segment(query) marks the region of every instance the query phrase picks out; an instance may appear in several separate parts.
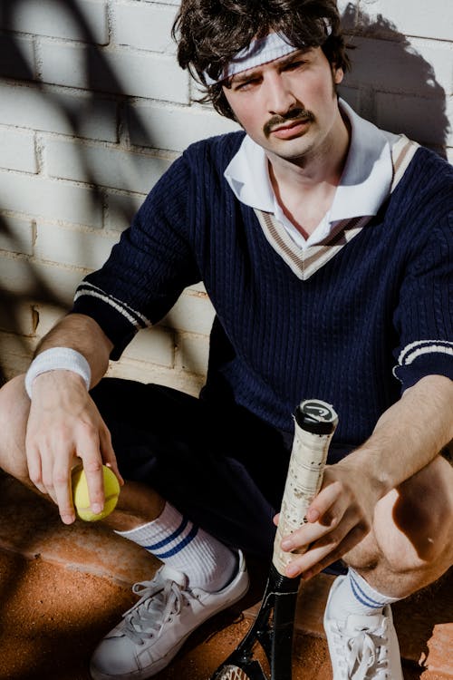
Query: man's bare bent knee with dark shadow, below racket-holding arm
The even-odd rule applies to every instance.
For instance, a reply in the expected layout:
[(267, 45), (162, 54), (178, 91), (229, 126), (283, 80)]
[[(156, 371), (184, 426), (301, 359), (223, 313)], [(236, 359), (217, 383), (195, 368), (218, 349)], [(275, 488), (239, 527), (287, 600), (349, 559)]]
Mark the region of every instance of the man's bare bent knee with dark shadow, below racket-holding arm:
[(407, 597), (453, 559), (453, 468), (438, 456), (376, 507), (371, 533), (345, 560), (377, 589)]

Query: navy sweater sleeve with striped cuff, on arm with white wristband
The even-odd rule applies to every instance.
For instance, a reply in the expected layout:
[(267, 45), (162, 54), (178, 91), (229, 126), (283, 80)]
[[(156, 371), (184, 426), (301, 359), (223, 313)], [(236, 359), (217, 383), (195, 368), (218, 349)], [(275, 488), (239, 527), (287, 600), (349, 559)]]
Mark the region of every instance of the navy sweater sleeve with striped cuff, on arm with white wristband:
[(182, 156), (150, 191), (103, 267), (76, 290), (72, 312), (92, 316), (101, 325), (114, 345), (112, 359), (199, 280), (188, 244), (193, 190), (189, 163)]

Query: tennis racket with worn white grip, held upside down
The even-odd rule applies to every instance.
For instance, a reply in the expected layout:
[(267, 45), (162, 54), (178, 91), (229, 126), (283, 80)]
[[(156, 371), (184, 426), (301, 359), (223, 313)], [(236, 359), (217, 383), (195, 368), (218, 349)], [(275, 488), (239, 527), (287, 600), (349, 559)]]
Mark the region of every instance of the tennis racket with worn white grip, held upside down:
[(295, 410), (293, 448), (261, 607), (246, 636), (217, 668), (211, 680), (292, 678), (294, 611), (300, 577), (284, 576), (284, 569), (294, 559), (294, 553), (284, 552), (280, 543), (285, 535), (307, 521), (305, 514), (321, 488), (327, 452), (337, 423), (337, 414), (325, 402), (304, 401)]

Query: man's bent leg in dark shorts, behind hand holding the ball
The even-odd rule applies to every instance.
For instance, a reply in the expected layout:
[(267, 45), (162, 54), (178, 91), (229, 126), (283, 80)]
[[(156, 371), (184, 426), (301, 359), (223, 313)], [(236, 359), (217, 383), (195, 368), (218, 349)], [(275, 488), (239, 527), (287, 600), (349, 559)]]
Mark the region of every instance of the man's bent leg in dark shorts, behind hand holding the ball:
[[(165, 498), (217, 539), (270, 558), (272, 519), (289, 460), (278, 432), (248, 415), (245, 422), (240, 412), (222, 408), (216, 415), (188, 394), (155, 385), (107, 379), (92, 395), (127, 480), (118, 510), (105, 520), (112, 529), (133, 529), (156, 519)], [(0, 468), (43, 496), (28, 476), (29, 406), (23, 376), (0, 389)], [(267, 472), (265, 452), (275, 453), (275, 466)]]

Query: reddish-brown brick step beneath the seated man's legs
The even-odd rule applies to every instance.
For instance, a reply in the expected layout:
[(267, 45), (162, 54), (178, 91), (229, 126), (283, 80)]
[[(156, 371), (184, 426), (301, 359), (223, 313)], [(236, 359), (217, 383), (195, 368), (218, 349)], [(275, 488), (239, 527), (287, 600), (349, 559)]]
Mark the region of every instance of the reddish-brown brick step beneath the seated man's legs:
[[(0, 475), (0, 548), (30, 559), (40, 556), (48, 563), (96, 577), (107, 577), (122, 588), (149, 579), (159, 566), (157, 559), (101, 525), (77, 521), (71, 527), (64, 526), (51, 504), (5, 475)], [(313, 680), (314, 677), (323, 680), (324, 674), (327, 674), (327, 679), (331, 673), (323, 632), (323, 608), (332, 581), (333, 577), (321, 574), (303, 583), (298, 597), (295, 633), (302, 642), (295, 647), (295, 655), (301, 659), (307, 655), (318, 659), (319, 664), (313, 666), (317, 668)], [(244, 621), (236, 621), (232, 646), (236, 645), (255, 617), (261, 593), (260, 582), (247, 598)], [(432, 590), (399, 602), (392, 608), (401, 656), (408, 663), (417, 665), (420, 672), (424, 671), (423, 678), (426, 676), (427, 680), (453, 679), (451, 578), (443, 578)], [(240, 612), (236, 614), (240, 615)], [(226, 619), (226, 627), (230, 624), (231, 621)], [(213, 636), (218, 626), (217, 622), (212, 628)], [(206, 627), (204, 630), (206, 635)], [(206, 637), (198, 642), (205, 646)], [(193, 644), (197, 646), (197, 636)], [(195, 647), (191, 645), (190, 649), (189, 656), (194, 653)], [(196, 656), (202, 653), (202, 650), (197, 650)], [(303, 660), (301, 664), (304, 664)], [(167, 675), (162, 675), (164, 677)], [(310, 680), (310, 677), (304, 675), (304, 680)]]

